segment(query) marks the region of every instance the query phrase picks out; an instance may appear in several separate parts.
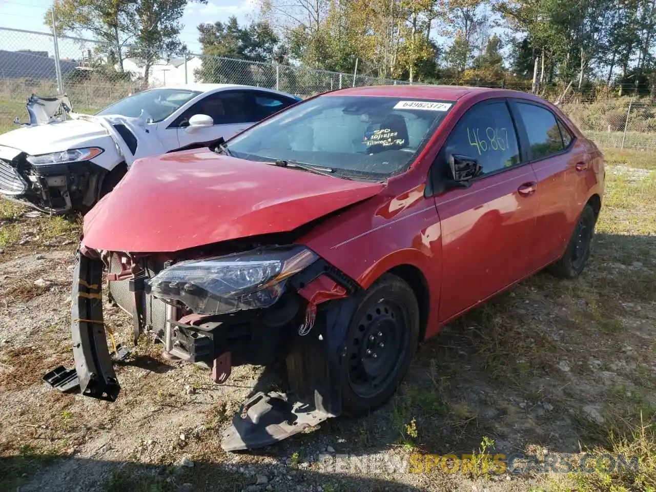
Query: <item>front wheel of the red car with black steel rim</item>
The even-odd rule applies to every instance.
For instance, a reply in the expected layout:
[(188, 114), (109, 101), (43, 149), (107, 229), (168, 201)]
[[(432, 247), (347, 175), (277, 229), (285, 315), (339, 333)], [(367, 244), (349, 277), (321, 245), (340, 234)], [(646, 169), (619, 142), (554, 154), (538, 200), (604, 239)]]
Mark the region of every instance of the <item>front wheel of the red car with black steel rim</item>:
[(419, 304), (400, 277), (385, 274), (365, 292), (346, 335), (342, 412), (358, 416), (392, 397), (419, 340)]

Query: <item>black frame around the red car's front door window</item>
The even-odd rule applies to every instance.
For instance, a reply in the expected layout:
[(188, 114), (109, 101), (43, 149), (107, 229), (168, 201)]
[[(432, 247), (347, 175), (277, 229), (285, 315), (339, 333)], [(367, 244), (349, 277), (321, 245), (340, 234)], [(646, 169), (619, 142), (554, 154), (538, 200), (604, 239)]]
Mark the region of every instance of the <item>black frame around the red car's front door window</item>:
[[(482, 174), (481, 176), (478, 176), (476, 178), (472, 178), (470, 180), (471, 183), (478, 182), (480, 180), (483, 180), (485, 178), (489, 178), (491, 176), (497, 176), (497, 174), (501, 173), (506, 173), (512, 169), (518, 169), (520, 167), (523, 167), (527, 164), (529, 164), (529, 161), (527, 160), (527, 153), (525, 151), (525, 142), (522, 140), (522, 131), (525, 131), (525, 129), (521, 128), (520, 131), (520, 125), (518, 125), (518, 120), (516, 119), (516, 115), (514, 114), (512, 110), (512, 106), (510, 106), (508, 102), (507, 97), (494, 97), (494, 98), (489, 98), (489, 99), (484, 99), (482, 101), (476, 102), (475, 104), (472, 104), (467, 110), (462, 114), (462, 116), (458, 119), (458, 121), (455, 122), (453, 127), (451, 128), (451, 131), (449, 131), (449, 134), (447, 137), (444, 139), (444, 143), (442, 144), (440, 150), (438, 151), (438, 154), (436, 155), (434, 161), (430, 165), (430, 169), (428, 170), (428, 185), (426, 186), (426, 190), (429, 191), (428, 196), (435, 196), (439, 195), (447, 190), (444, 189), (443, 184), (440, 184), (441, 181), (441, 176), (439, 175), (440, 167), (444, 167), (447, 165), (446, 160), (443, 158), (443, 151), (446, 148), (447, 143), (449, 142), (449, 138), (451, 138), (451, 135), (455, 132), (456, 127), (459, 125), (459, 123), (462, 121), (466, 115), (474, 108), (480, 107), (480, 106), (486, 106), (487, 104), (498, 104), (498, 103), (504, 103), (506, 104), (506, 108), (508, 108), (508, 114), (510, 115), (510, 120), (512, 121), (512, 126), (515, 131), (515, 136), (517, 139), (517, 148), (518, 148), (518, 154), (520, 157), (520, 161), (516, 163), (515, 165), (512, 165), (510, 167), (502, 167), (500, 169), (496, 169), (495, 171), (491, 171), (490, 173)], [(441, 162), (441, 163), (440, 163)], [(440, 186), (438, 186), (440, 185)], [(429, 190), (430, 188), (430, 190)]]

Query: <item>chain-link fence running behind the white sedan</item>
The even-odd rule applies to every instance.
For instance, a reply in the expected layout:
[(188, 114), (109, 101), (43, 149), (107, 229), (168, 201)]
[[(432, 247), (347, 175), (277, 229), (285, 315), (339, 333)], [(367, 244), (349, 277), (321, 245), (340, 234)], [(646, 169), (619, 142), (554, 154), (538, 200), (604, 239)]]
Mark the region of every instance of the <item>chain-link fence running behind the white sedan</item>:
[(408, 83), (193, 53), (156, 53), (144, 60), (132, 56), (134, 50), (131, 45), (119, 49), (92, 39), (55, 39), (51, 33), (0, 28), (0, 133), (12, 129), (17, 116), (26, 116), (30, 94), (52, 96), (60, 87), (76, 112), (93, 113), (163, 85), (235, 83), (307, 97), (343, 87)]

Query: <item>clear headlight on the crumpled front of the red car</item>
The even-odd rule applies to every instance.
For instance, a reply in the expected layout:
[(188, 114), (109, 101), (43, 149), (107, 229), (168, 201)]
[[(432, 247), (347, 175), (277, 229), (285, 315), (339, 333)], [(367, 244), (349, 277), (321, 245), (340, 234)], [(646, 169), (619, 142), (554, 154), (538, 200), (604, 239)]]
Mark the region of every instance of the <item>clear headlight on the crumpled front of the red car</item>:
[(266, 308), (282, 295), (287, 279), (318, 258), (302, 246), (261, 249), (183, 261), (146, 281), (146, 292), (179, 300), (196, 314)]

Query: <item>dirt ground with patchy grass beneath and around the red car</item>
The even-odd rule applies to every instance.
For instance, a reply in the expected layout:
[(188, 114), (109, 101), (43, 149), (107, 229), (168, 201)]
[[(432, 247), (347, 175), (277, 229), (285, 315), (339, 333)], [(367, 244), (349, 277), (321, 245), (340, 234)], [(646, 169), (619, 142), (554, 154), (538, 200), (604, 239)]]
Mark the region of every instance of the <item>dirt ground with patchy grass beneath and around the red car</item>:
[[(609, 166), (593, 253), (579, 279), (538, 274), (451, 323), (420, 346), (398, 394), (369, 417), (329, 420), (245, 453), (222, 451), (221, 432), (256, 384), (276, 386), (276, 371), (237, 367), (217, 386), (208, 371), (167, 361), (146, 340), (117, 366), (122, 390), (115, 403), (60, 394), (42, 382), (52, 367), (72, 367), (76, 226), (5, 208), (0, 490), (470, 492), (604, 490), (611, 483), (653, 490), (653, 469), (628, 476), (496, 473), (481, 466), (451, 473), (443, 466), (426, 471), (417, 454), (473, 453), (474, 462), (486, 453), (578, 459), (586, 451), (637, 449), (632, 445), (642, 439), (641, 464), (653, 466), (656, 173), (650, 166), (621, 160)], [(115, 312), (108, 322), (129, 343), (125, 316)], [(632, 436), (636, 429), (642, 438)]]

